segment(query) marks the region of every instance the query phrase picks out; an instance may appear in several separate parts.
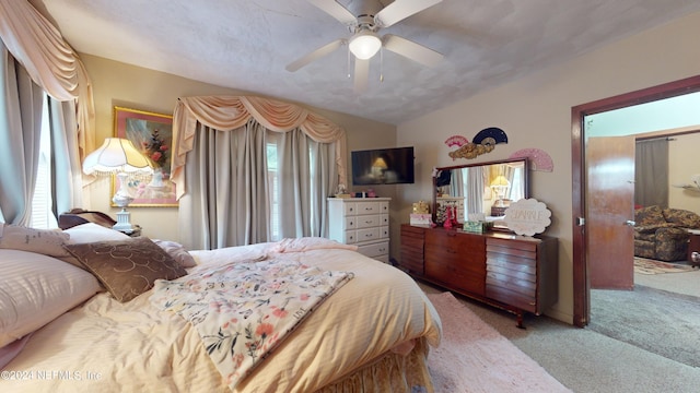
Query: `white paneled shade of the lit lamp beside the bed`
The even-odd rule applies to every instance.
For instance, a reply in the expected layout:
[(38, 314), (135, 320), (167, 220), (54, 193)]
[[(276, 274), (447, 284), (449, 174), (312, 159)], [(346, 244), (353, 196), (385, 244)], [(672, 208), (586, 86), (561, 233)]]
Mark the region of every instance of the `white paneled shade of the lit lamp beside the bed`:
[(152, 172), (151, 164), (127, 139), (107, 138), (83, 160), (83, 172)]

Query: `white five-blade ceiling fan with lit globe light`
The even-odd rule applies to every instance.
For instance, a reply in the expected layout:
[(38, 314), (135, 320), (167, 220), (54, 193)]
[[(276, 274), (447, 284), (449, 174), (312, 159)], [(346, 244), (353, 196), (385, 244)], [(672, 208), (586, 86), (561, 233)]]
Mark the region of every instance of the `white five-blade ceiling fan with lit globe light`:
[(345, 8), (337, 0), (307, 1), (348, 26), (352, 36), (336, 39), (301, 57), (289, 63), (287, 71), (294, 72), (341, 46), (348, 45), (354, 57), (354, 90), (362, 93), (368, 87), (370, 59), (381, 48), (427, 67), (434, 67), (443, 59), (443, 55), (415, 41), (393, 34), (385, 34), (382, 37), (377, 34), (381, 28), (392, 26), (442, 0), (395, 0), (384, 8), (380, 0), (351, 0), (348, 4), (350, 9)]

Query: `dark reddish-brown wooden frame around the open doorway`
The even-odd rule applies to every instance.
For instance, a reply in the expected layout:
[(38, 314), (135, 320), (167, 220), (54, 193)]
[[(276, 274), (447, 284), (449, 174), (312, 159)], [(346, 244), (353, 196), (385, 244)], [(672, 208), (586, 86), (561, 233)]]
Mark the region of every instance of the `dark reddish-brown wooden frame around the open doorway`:
[(664, 83), (653, 87), (598, 99), (571, 108), (571, 170), (572, 170), (572, 240), (573, 240), (573, 324), (583, 327), (591, 319), (591, 285), (586, 250), (585, 224), (585, 116), (620, 109), (639, 104), (700, 92), (700, 75)]

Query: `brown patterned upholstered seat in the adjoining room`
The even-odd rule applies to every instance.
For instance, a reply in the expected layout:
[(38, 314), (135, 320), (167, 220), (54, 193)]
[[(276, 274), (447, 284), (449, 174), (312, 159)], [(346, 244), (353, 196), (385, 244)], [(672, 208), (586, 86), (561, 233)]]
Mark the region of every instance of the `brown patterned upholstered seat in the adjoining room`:
[(700, 215), (681, 209), (648, 206), (634, 213), (634, 255), (660, 261), (687, 258), (688, 229), (700, 228)]

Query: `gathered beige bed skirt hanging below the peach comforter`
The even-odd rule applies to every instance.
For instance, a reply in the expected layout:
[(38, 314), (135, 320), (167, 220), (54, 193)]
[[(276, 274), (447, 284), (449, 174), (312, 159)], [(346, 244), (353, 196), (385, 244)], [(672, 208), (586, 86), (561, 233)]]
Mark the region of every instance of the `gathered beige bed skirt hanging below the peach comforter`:
[(433, 393), (428, 371), (430, 346), (425, 337), (416, 340), (416, 346), (406, 356), (386, 353), (373, 362), (327, 385), (316, 393), (350, 392), (420, 392)]

